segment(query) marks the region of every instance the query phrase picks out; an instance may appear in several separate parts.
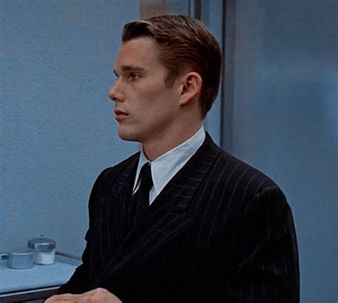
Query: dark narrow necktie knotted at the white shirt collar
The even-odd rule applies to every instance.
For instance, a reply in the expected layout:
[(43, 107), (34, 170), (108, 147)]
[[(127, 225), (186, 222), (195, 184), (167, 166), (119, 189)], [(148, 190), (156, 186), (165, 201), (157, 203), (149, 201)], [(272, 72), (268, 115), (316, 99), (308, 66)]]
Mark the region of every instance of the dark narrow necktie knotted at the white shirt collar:
[(150, 163), (145, 163), (140, 170), (140, 186), (131, 196), (132, 203), (136, 205), (134, 225), (143, 219), (146, 210), (149, 207), (149, 191), (153, 187), (153, 178), (151, 178)]

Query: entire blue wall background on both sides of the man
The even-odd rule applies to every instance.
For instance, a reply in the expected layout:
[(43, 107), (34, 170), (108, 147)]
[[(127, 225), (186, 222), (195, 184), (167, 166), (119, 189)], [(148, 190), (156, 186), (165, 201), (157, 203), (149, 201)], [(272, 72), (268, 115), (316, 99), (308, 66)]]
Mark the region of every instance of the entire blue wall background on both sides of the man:
[[(0, 1), (0, 252), (43, 233), (81, 255), (96, 176), (138, 149), (116, 135), (108, 89), (140, 2)], [(205, 126), (285, 191), (302, 302), (337, 302), (338, 1), (227, 1), (225, 24), (222, 1), (202, 4), (226, 48)]]

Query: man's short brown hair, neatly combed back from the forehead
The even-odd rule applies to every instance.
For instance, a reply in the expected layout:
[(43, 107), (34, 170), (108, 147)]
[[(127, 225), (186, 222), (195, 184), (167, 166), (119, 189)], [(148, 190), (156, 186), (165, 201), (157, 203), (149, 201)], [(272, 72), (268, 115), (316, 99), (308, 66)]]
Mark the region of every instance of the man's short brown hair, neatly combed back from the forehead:
[(182, 15), (154, 16), (124, 26), (122, 41), (149, 36), (160, 46), (160, 61), (168, 68), (166, 84), (188, 71), (200, 74), (200, 93), (205, 116), (217, 96), (220, 85), (222, 53), (217, 40), (199, 20)]

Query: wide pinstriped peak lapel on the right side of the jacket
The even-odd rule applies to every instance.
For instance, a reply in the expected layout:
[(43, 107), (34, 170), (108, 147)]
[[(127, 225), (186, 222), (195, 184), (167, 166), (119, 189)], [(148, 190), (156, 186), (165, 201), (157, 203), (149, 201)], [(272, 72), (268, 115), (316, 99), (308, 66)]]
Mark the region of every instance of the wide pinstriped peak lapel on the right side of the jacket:
[[(150, 205), (145, 220), (135, 225), (121, 242), (97, 286), (103, 287), (108, 279), (128, 274), (193, 226), (193, 220), (184, 216), (184, 210), (219, 153), (220, 148), (207, 133), (203, 145)], [(122, 198), (123, 195), (119, 204), (123, 203)]]

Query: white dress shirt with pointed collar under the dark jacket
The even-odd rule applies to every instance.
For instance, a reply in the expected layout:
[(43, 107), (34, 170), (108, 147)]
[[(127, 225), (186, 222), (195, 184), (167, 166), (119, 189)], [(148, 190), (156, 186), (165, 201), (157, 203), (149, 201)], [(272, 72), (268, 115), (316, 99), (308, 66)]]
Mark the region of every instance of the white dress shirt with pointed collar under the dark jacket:
[(183, 168), (183, 165), (185, 165), (185, 163), (187, 163), (188, 160), (196, 153), (198, 148), (200, 148), (200, 145), (203, 144), (204, 140), (205, 130), (202, 126), (200, 130), (193, 135), (193, 137), (153, 161), (148, 160), (141, 148), (133, 193), (138, 190), (140, 185), (138, 177), (143, 164), (149, 162), (151, 164), (151, 176), (153, 178), (153, 188), (151, 188), (149, 192), (149, 201), (151, 204), (153, 200), (155, 200), (155, 197), (157, 197), (163, 188), (165, 188), (165, 185), (167, 185), (171, 178), (178, 173), (178, 170)]

